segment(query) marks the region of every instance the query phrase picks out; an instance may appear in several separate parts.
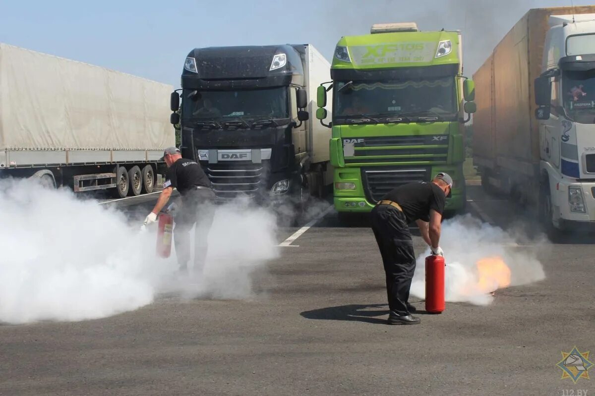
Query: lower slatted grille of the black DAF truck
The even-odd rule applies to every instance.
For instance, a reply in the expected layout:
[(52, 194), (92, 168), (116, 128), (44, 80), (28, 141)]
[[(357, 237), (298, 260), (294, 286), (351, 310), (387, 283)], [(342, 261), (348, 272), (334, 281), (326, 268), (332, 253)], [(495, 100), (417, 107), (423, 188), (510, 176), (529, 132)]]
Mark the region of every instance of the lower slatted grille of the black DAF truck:
[(211, 181), (217, 199), (234, 199), (237, 196), (256, 197), (265, 186), (267, 162), (234, 162), (206, 164), (205, 173)]

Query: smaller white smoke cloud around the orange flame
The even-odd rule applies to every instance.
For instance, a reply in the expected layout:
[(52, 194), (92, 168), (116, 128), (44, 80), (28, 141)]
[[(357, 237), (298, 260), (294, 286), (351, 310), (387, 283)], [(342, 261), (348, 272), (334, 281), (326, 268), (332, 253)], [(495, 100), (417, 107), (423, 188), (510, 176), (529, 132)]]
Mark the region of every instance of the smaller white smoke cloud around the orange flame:
[[(440, 246), (444, 250), (446, 269), (444, 275), (446, 301), (464, 301), (487, 305), (493, 296), (478, 287), (476, 263), (486, 257), (501, 257), (511, 271), (511, 286), (525, 285), (545, 278), (543, 266), (537, 259), (537, 249), (543, 249), (543, 238), (533, 240), (531, 245), (518, 245), (512, 233), (503, 231), (473, 218), (457, 216), (444, 221)], [(415, 275), (411, 284), (411, 296), (425, 297), (425, 257), (428, 248), (417, 259)], [(496, 286), (492, 288), (496, 290)], [(493, 291), (491, 290), (491, 291)]]

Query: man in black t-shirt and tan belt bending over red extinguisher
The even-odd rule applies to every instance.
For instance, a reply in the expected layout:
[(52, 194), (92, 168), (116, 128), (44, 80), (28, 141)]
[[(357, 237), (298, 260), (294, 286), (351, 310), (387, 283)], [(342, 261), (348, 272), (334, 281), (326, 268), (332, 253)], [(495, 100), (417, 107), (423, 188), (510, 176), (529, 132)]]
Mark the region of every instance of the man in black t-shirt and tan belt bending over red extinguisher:
[(386, 272), (389, 325), (417, 325), (420, 322), (411, 315), (415, 308), (408, 301), (415, 271), (409, 223), (417, 222), (432, 254), (443, 255), (439, 246), (440, 222), (451, 188), (452, 178), (441, 172), (431, 183), (408, 183), (394, 188), (372, 209), (372, 231)]

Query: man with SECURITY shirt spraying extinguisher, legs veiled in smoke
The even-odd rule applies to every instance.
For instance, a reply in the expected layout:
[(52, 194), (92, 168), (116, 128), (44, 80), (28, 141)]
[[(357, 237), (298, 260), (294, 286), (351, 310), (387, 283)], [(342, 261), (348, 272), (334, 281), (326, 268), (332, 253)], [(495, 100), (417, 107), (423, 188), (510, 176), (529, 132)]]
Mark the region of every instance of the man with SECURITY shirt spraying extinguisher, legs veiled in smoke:
[(170, 200), (171, 193), (177, 188), (181, 195), (181, 205), (176, 210), (174, 221), (174, 244), (180, 271), (187, 271), (190, 260), (190, 230), (195, 229), (195, 265), (194, 270), (202, 270), (206, 258), (206, 241), (214, 216), (213, 203), (215, 193), (211, 182), (203, 172), (201, 165), (190, 159), (182, 158), (180, 150), (168, 147), (162, 158), (167, 164), (167, 174), (163, 191), (155, 204), (155, 208), (145, 219), (145, 225), (155, 222), (157, 213)]

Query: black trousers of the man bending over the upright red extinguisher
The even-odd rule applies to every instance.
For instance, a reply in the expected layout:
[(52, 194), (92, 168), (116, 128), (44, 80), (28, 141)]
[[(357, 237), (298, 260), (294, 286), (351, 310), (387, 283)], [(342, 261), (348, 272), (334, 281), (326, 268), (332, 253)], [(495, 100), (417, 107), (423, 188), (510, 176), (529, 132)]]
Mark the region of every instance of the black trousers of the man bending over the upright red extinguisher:
[(372, 209), (371, 222), (386, 273), (390, 310), (396, 315), (409, 315), (415, 253), (405, 213), (390, 205), (378, 205)]

